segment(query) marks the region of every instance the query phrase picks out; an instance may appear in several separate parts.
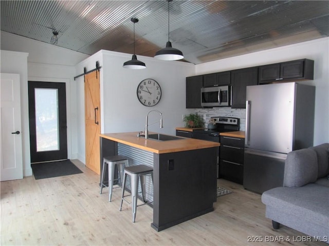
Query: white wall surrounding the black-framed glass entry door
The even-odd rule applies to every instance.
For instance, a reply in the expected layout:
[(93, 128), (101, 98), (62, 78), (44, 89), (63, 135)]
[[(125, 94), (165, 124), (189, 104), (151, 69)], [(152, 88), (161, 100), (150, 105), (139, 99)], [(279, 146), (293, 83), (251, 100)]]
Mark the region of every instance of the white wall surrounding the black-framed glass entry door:
[[(58, 46), (46, 44), (22, 36), (1, 31), (1, 71), (17, 73), (21, 70), (21, 60), (15, 59), (14, 53), (6, 51), (19, 51), (28, 53), (26, 78), (21, 74), (21, 105), (22, 124), (24, 128), (23, 163), (26, 171), (24, 176), (32, 175), (30, 168), (30, 144), (29, 144), (29, 115), (28, 115), (28, 87), (27, 81), (51, 81), (66, 83), (66, 111), (67, 111), (67, 144), (68, 158), (78, 158), (77, 135), (77, 81), (75, 65), (89, 55), (64, 49)], [(22, 60), (23, 61), (23, 60)], [(82, 71), (83, 72), (83, 71)], [(80, 73), (82, 73), (80, 72)], [(84, 133), (83, 133), (84, 134)]]

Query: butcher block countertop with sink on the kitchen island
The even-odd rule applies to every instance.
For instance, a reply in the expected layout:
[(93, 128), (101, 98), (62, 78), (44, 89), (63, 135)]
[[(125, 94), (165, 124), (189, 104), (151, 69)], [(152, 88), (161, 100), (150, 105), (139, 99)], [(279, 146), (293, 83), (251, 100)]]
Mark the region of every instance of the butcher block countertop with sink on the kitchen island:
[[(150, 132), (149, 134), (152, 133), (155, 132)], [(141, 150), (150, 151), (156, 154), (206, 149), (220, 146), (218, 142), (211, 142), (185, 137), (181, 137), (182, 139), (169, 141), (145, 139), (145, 137), (137, 137), (137, 132), (104, 133), (100, 134), (99, 136)]]

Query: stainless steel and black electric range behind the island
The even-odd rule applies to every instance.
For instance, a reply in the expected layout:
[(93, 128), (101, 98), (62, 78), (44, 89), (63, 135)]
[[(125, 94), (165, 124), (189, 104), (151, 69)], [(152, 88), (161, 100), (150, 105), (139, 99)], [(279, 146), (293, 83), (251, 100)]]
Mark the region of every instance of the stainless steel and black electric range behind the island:
[[(240, 131), (240, 119), (231, 117), (211, 117), (214, 129), (197, 129), (192, 132), (192, 138), (221, 142), (221, 132)], [(219, 178), (220, 152), (217, 160), (217, 178)]]

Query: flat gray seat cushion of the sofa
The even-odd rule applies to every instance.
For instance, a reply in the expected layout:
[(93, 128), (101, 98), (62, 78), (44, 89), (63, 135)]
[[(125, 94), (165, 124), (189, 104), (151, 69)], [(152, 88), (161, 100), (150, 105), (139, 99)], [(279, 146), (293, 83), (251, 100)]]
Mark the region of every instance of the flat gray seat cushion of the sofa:
[(315, 183), (299, 188), (273, 188), (262, 194), (262, 202), (305, 221), (317, 221), (325, 227), (329, 223), (329, 189)]

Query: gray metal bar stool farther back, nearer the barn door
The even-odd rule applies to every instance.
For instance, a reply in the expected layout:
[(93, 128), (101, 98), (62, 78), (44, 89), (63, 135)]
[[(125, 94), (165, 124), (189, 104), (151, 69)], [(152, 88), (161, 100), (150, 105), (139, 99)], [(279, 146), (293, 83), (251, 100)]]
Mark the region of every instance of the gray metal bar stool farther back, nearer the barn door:
[[(119, 177), (117, 179), (114, 178), (114, 170), (115, 165), (118, 167)], [(113, 181), (114, 180), (120, 180), (122, 181), (122, 173), (124, 166), (128, 166), (128, 158), (123, 155), (113, 155), (113, 156), (107, 156), (103, 158), (103, 170), (102, 170), (102, 181), (101, 181), (101, 191), (100, 194), (102, 194), (103, 187), (106, 187), (104, 185), (104, 173), (107, 166), (108, 169), (108, 201), (111, 201), (112, 199), (112, 190), (113, 190)], [(121, 182), (122, 185), (122, 182)]]

